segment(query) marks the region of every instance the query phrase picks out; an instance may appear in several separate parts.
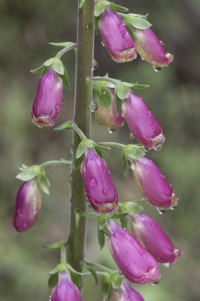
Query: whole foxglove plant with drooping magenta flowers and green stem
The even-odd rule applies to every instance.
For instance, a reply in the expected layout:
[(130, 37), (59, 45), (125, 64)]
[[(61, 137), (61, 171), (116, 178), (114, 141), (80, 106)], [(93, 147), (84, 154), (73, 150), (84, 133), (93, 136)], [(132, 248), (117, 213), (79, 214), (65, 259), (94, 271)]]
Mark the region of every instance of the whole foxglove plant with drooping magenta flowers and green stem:
[[(72, 166), (68, 239), (45, 245), (49, 249), (61, 249), (60, 264), (48, 273), (48, 285), (53, 289), (51, 301), (81, 301), (79, 289), (82, 287), (82, 277), (90, 274), (96, 282), (98, 276), (102, 277), (105, 300), (110, 300), (113, 293), (115, 301), (143, 301), (125, 278), (134, 284), (156, 284), (160, 277), (156, 261), (174, 263), (181, 250), (173, 246), (150, 217), (140, 214), (142, 200), (118, 203), (110, 171), (103, 159), (103, 155), (107, 155), (105, 151), (109, 147), (121, 149), (125, 177), (131, 167), (139, 189), (160, 211), (174, 209), (178, 197), (159, 169), (144, 157), (144, 151), (160, 150), (165, 141), (161, 126), (142, 98), (132, 91), (149, 86), (109, 78), (108, 74), (93, 77), (94, 31), (96, 29), (96, 33), (101, 34), (102, 44), (116, 62), (134, 60), (138, 52), (143, 59), (162, 67), (168, 65), (173, 56), (165, 53), (149, 29), (151, 24), (146, 20), (147, 16), (121, 13), (128, 9), (107, 0), (79, 0), (78, 5), (77, 44), (50, 43), (62, 49), (32, 71), (42, 71), (32, 120), (40, 127), (53, 125), (60, 111), (63, 86), (70, 89), (68, 74), (60, 58), (68, 50), (75, 50), (74, 120), (54, 128), (73, 129), (73, 158), (72, 161), (61, 159), (30, 167), (22, 165), (17, 178), (25, 183), (17, 194), (13, 226), (17, 231), (24, 232), (34, 224), (41, 207), (40, 190), (50, 194), (50, 183), (44, 168), (54, 164)], [(99, 104), (94, 105), (94, 101)], [(123, 126), (125, 118), (131, 131), (130, 138), (135, 137), (140, 144), (97, 144), (91, 140), (91, 111), (96, 111), (96, 120), (100, 124), (111, 129)], [(88, 208), (86, 197), (91, 205)], [(145, 246), (126, 230), (129, 213), (132, 227)], [(119, 270), (85, 261), (87, 216), (98, 220), (100, 249), (104, 246), (105, 234), (108, 235), (109, 250), (120, 273)], [(122, 227), (115, 219), (120, 219)]]

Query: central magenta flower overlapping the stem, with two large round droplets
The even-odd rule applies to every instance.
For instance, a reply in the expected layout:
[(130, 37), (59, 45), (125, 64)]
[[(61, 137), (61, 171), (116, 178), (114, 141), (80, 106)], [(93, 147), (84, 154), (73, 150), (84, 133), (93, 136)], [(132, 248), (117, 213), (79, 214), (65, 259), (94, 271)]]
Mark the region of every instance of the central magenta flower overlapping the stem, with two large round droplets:
[(85, 150), (81, 173), (88, 200), (98, 213), (118, 208), (118, 196), (110, 171), (94, 149)]

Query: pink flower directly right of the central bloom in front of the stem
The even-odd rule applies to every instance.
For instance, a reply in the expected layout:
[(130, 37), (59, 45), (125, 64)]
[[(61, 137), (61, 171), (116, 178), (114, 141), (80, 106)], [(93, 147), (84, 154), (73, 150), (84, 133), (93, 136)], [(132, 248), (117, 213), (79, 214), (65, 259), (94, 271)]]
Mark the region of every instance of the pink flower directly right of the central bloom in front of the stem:
[(134, 160), (132, 169), (138, 188), (151, 204), (165, 209), (176, 206), (178, 196), (151, 160), (146, 157)]

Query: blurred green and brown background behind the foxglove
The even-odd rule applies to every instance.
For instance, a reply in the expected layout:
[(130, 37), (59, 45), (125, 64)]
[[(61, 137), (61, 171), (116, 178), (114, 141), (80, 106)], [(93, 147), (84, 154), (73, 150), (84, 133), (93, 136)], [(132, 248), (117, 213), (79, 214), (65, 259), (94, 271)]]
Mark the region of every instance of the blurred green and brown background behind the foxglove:
[[(159, 285), (138, 285), (146, 301), (200, 300), (200, 1), (199, 0), (124, 0), (115, 1), (130, 12), (146, 14), (157, 36), (165, 42), (175, 60), (161, 72), (140, 57), (117, 64), (95, 38), (95, 75), (127, 82), (149, 84), (138, 90), (167, 137), (162, 151), (150, 151), (148, 158), (166, 175), (180, 196), (178, 208), (159, 215), (149, 203), (144, 213), (154, 218), (170, 236), (183, 255), (170, 269), (160, 265)], [(59, 251), (43, 244), (67, 238), (69, 218), (70, 169), (47, 168), (50, 197), (43, 194), (42, 210), (36, 224), (27, 232), (17, 233), (11, 224), (15, 197), (21, 181), (15, 179), (18, 167), (43, 161), (71, 158), (71, 131), (40, 129), (31, 121), (31, 108), (40, 74), (30, 69), (41, 65), (59, 50), (47, 42), (76, 40), (77, 1), (70, 0), (0, 0), (0, 301), (44, 301), (50, 296), (46, 273), (59, 262)], [(74, 53), (63, 57), (72, 90), (64, 90), (62, 112), (56, 126), (71, 120), (74, 106)], [(131, 143), (125, 125), (113, 134), (92, 117), (92, 138), (99, 141)], [(97, 142), (97, 141), (96, 141)], [(108, 151), (108, 164), (119, 194), (119, 201), (141, 198), (133, 176), (125, 179), (120, 152)], [(116, 268), (107, 246), (100, 251), (97, 223), (88, 220), (87, 256), (89, 261)], [(83, 300), (101, 301), (99, 285), (88, 277), (84, 281)]]

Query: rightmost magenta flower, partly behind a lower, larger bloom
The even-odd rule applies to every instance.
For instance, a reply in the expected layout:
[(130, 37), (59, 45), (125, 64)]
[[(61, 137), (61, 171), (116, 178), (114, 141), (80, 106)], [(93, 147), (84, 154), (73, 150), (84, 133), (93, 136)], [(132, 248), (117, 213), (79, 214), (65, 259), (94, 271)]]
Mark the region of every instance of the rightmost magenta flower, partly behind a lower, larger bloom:
[(148, 252), (157, 261), (172, 264), (182, 254), (182, 251), (174, 247), (165, 232), (149, 216), (142, 213), (129, 216), (135, 235), (141, 239)]

